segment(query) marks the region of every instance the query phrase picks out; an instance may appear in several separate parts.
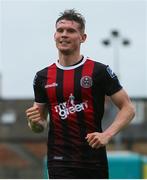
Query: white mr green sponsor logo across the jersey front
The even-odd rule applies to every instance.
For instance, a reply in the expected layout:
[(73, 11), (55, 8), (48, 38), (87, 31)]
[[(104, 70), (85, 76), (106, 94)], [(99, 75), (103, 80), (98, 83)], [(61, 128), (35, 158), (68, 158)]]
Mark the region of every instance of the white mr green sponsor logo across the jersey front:
[(75, 97), (70, 94), (67, 102), (60, 103), (55, 106), (55, 111), (60, 115), (61, 119), (66, 119), (69, 114), (74, 114), (88, 108), (88, 101), (75, 104)]

